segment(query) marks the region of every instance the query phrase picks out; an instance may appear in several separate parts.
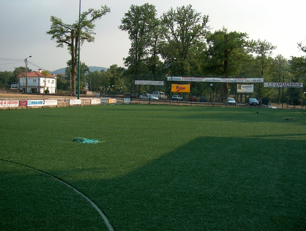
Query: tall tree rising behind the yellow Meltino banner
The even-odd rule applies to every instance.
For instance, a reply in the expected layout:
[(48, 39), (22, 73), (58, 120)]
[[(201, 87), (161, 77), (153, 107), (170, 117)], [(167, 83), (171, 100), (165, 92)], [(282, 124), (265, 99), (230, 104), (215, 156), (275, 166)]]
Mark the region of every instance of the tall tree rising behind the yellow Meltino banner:
[(196, 58), (195, 51), (203, 50), (207, 34), (208, 16), (192, 9), (191, 5), (171, 8), (163, 13), (162, 25), (166, 28), (166, 41), (160, 52), (173, 74), (188, 74), (192, 71), (191, 63)]

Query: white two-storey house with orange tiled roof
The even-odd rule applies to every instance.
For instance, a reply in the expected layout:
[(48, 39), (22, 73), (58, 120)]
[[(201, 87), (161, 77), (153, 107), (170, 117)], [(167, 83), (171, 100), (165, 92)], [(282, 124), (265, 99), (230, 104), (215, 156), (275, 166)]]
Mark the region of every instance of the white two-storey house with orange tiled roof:
[[(25, 93), (56, 93), (56, 76), (48, 74), (43, 76), (42, 69), (27, 73), (21, 72), (17, 78), (17, 88)], [(28, 86), (28, 87), (27, 87)]]

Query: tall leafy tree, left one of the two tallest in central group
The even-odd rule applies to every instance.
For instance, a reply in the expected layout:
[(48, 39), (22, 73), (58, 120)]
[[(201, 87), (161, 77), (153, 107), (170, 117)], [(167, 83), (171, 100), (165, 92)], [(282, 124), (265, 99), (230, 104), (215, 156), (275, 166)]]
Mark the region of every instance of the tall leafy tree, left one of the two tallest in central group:
[(132, 5), (128, 13), (125, 13), (125, 17), (122, 18), (119, 29), (127, 31), (131, 40), (129, 56), (125, 58), (125, 66), (128, 66), (131, 74), (146, 72), (144, 58), (149, 53), (147, 48), (152, 44), (157, 26), (155, 6), (148, 3), (142, 6)]

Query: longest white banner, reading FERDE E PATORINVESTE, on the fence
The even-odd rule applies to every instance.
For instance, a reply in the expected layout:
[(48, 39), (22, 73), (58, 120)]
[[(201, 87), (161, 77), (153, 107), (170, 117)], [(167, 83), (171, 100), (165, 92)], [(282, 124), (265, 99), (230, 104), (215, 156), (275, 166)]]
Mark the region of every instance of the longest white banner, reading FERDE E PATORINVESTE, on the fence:
[(208, 78), (208, 77), (167, 77), (168, 81), (194, 81), (194, 82), (229, 82), (229, 83), (262, 83), (263, 78)]

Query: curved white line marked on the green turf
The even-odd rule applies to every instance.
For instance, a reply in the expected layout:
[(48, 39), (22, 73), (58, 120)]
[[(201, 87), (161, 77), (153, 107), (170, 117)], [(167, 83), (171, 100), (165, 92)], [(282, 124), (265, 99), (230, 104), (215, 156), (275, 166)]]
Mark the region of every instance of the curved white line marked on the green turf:
[(30, 167), (30, 166), (27, 166), (27, 165), (23, 165), (23, 164), (19, 164), (19, 163), (17, 163), (17, 162), (13, 162), (13, 161), (7, 161), (7, 160), (3, 160), (3, 159), (0, 159), (0, 160), (1, 160), (1, 161), (4, 161), (4, 162), (9, 162), (9, 163), (21, 165), (21, 166), (24, 166), (24, 167), (27, 167), (27, 168), (30, 168), (30, 169), (34, 169), (35, 171), (41, 172), (41, 173), (43, 173), (43, 174), (45, 174), (45, 175), (47, 175), (47, 176), (50, 176), (50, 177), (52, 177), (53, 179), (58, 180), (59, 182), (62, 182), (62, 183), (65, 184), (66, 186), (72, 188), (76, 193), (80, 194), (80, 195), (81, 195), (82, 197), (84, 197), (89, 203), (91, 203), (91, 205), (95, 208), (95, 210), (97, 210), (97, 212), (98, 212), (98, 213), (100, 214), (100, 216), (103, 218), (103, 220), (104, 220), (104, 222), (105, 222), (105, 224), (106, 224), (108, 230), (114, 231), (112, 225), (110, 224), (110, 222), (108, 221), (108, 219), (106, 218), (106, 216), (103, 214), (103, 212), (99, 209), (99, 207), (98, 207), (91, 199), (89, 199), (89, 198), (88, 198), (87, 196), (85, 196), (83, 193), (81, 193), (80, 191), (78, 191), (76, 188), (72, 187), (70, 184), (67, 184), (66, 182), (64, 182), (64, 181), (62, 181), (62, 180), (56, 178), (55, 176), (52, 176), (52, 175), (50, 175), (49, 173), (43, 172), (43, 171), (41, 171), (41, 170), (39, 170), (39, 169), (35, 169), (35, 168), (33, 168), (33, 167)]

